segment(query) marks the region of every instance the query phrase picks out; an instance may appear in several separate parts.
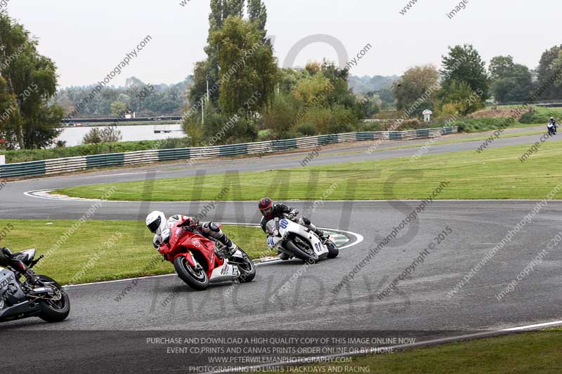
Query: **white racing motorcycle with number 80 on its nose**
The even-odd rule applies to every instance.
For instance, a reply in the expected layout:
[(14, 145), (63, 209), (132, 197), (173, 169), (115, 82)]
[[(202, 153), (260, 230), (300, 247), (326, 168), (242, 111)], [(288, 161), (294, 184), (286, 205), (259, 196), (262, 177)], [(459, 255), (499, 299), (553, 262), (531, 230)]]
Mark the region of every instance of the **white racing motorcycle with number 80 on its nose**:
[(322, 242), (310, 229), (288, 218), (274, 218), (266, 224), (268, 246), (305, 262), (316, 262), (322, 258), (336, 258), (339, 249), (332, 238)]

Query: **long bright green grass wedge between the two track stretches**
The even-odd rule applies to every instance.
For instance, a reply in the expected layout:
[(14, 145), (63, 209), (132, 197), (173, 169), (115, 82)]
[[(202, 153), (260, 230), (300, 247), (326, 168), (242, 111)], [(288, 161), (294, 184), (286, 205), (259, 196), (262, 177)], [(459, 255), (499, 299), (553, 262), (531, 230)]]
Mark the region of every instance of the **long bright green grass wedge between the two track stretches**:
[[(518, 157), (530, 145), (426, 155), (412, 163), (409, 157), (339, 163), (200, 178), (158, 180), (150, 196), (145, 182), (124, 182), (60, 189), (58, 193), (99, 199), (115, 186), (110, 199), (126, 201), (223, 201), (273, 199), (426, 199), (441, 182), (450, 182), (436, 199), (544, 199), (562, 182), (558, 142), (545, 142), (539, 152), (521, 163)], [(413, 154), (413, 152), (412, 152)], [(330, 186), (332, 193), (326, 194)], [(355, 187), (353, 187), (355, 186)], [(355, 193), (353, 189), (355, 188)]]

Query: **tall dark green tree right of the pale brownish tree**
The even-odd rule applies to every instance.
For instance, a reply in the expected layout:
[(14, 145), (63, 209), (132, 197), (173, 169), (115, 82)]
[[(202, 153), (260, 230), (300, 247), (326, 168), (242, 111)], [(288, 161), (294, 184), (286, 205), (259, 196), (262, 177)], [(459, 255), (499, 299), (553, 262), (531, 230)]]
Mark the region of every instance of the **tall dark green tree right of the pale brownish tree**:
[(441, 85), (445, 95), (452, 89), (453, 82), (465, 82), (473, 92), (483, 92), (482, 102), (490, 98), (490, 79), (486, 73), (485, 62), (472, 45), (449, 47), (449, 54), (443, 56), (442, 63), (443, 69), (440, 72), (443, 74), (443, 81)]

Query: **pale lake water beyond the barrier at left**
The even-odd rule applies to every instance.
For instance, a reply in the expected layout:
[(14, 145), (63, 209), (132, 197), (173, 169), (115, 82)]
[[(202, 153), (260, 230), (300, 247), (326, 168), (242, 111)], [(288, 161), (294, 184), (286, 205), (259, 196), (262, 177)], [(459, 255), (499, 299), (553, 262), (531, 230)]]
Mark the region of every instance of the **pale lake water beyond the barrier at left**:
[[(102, 127), (103, 128), (103, 127)], [(117, 126), (121, 135), (122, 142), (134, 142), (137, 140), (163, 140), (168, 138), (183, 138), (185, 133), (181, 124), (176, 125), (138, 125), (138, 126)], [(155, 128), (170, 130), (171, 133), (155, 133)], [(67, 147), (81, 145), (84, 135), (91, 130), (91, 127), (68, 127), (63, 133), (58, 135), (57, 140), (64, 140)]]

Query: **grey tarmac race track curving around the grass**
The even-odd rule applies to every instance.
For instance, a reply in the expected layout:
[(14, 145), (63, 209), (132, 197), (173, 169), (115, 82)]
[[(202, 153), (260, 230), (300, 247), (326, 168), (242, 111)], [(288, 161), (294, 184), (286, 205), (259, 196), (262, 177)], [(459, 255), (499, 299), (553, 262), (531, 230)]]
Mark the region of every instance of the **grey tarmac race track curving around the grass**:
[[(539, 136), (500, 138), (490, 147), (530, 145)], [(369, 145), (351, 143), (343, 148), (325, 149), (313, 165), (411, 156), (417, 150), (392, 149), (367, 154), (364, 151)], [(401, 144), (393, 142), (385, 146), (396, 145)], [(473, 150), (478, 145), (481, 141), (434, 145), (429, 154)], [(292, 168), (298, 167), (306, 154), (306, 151), (276, 154), (244, 159), (244, 162), (201, 161), (190, 167), (185, 163), (169, 163), (9, 182), (0, 195), (0, 216), (78, 219), (91, 206), (91, 201), (48, 199), (29, 192), (105, 182), (177, 178), (195, 175), (200, 168), (207, 174)], [(302, 201), (291, 204), (301, 211), (306, 208)], [(360, 234), (365, 240), (342, 249), (335, 260), (306, 267), (296, 281), (289, 283), (287, 292), (275, 300), (271, 299), (273, 293), (299, 272), (303, 267), (301, 262), (259, 265), (256, 279), (232, 288), (231, 293), (226, 292), (229, 284), (195, 292), (175, 275), (138, 279), (119, 301), (117, 296), (131, 280), (69, 287), (72, 312), (64, 323), (24, 319), (0, 324), (2, 345), (5, 347), (5, 342), (9, 342), (11, 351), (18, 352), (6, 356), (0, 365), (6, 371), (1, 371), (55, 373), (57, 368), (65, 368), (79, 373), (133, 373), (141, 369), (154, 373), (185, 373), (188, 371), (185, 369), (187, 356), (166, 354), (165, 347), (148, 344), (146, 338), (162, 335), (185, 338), (195, 334), (195, 330), (212, 331), (212, 336), (228, 336), (235, 334), (233, 331), (243, 335), (251, 331), (266, 334), (273, 330), (280, 336), (289, 331), (296, 335), (329, 330), (340, 331), (338, 335), (349, 331), (372, 332), (372, 335), (387, 331), (413, 336), (421, 342), (562, 319), (562, 246), (550, 250), (542, 264), (525, 276), (513, 292), (502, 300), (496, 298), (561, 231), (562, 201), (549, 201), (532, 223), (525, 225), (457, 293), (451, 293), (452, 288), (532, 211), (536, 201), (435, 201), (419, 214), (418, 220), (405, 227), (396, 240), (374, 255), (354, 279), (345, 283), (339, 292), (332, 293), (344, 276), (365, 259), (370, 249), (391, 234), (393, 227), (418, 205), (419, 201), (325, 202), (313, 215), (315, 223)], [(140, 220), (146, 212), (156, 208), (169, 214), (197, 211), (200, 206), (202, 203), (198, 202), (107, 201), (93, 219)], [(218, 222), (256, 223), (259, 220), (253, 201), (218, 203), (214, 213), (213, 219)], [(414, 272), (398, 283), (396, 290), (377, 298), (447, 226), (450, 234), (429, 251), (424, 262), (418, 263)], [(30, 235), (37, 235), (40, 240), (40, 229)], [(354, 236), (351, 238), (353, 241)], [(176, 296), (164, 302), (169, 295)], [(26, 351), (29, 347), (34, 347), (32, 352)], [(204, 358), (200, 360), (204, 364)], [(22, 367), (26, 370), (21, 370)]]

